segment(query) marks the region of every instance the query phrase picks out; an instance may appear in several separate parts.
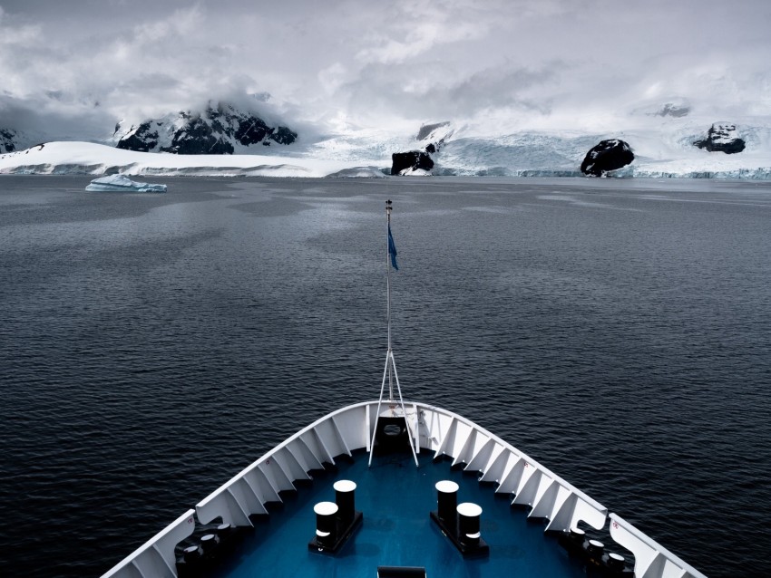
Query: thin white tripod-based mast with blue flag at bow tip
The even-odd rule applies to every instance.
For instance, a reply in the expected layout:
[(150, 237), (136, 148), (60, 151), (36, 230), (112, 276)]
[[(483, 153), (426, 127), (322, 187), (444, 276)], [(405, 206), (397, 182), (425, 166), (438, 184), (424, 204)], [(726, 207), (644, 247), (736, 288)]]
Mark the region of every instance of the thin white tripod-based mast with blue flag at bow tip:
[[(386, 420), (387, 425), (398, 422), (404, 424), (406, 429), (407, 438), (409, 439), (410, 449), (413, 452), (413, 458), (415, 458), (415, 466), (418, 466), (417, 461), (417, 437), (413, 435), (410, 424), (407, 421), (407, 411), (405, 409), (405, 400), (402, 399), (402, 388), (399, 385), (399, 374), (396, 371), (396, 361), (394, 360), (394, 350), (391, 349), (391, 267), (398, 271), (399, 267), (396, 265), (396, 246), (394, 243), (394, 237), (391, 235), (391, 211), (394, 209), (390, 199), (385, 201), (385, 224), (387, 227), (388, 235), (388, 250), (385, 254), (385, 292), (387, 295), (387, 317), (388, 317), (388, 350), (385, 352), (385, 369), (383, 371), (383, 382), (380, 384), (380, 399), (377, 401), (377, 411), (375, 415), (375, 435), (372, 441), (372, 446), (369, 448), (369, 462), (367, 466), (372, 465), (372, 455), (375, 453), (375, 441), (378, 435), (377, 425), (382, 417)], [(383, 394), (385, 393), (385, 377), (388, 377), (388, 405), (387, 409), (384, 409), (381, 414), (380, 408), (383, 405)], [(396, 382), (396, 392), (398, 393), (398, 402), (394, 398), (394, 381)], [(415, 422), (417, 416), (415, 416)], [(399, 426), (400, 428), (402, 426)], [(384, 428), (385, 429), (385, 428)]]

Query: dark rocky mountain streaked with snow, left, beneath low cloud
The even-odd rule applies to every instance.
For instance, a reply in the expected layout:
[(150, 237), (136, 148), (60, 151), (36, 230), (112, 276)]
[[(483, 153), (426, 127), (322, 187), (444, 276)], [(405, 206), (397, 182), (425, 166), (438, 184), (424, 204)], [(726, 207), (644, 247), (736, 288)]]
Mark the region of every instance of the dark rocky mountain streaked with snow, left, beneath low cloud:
[(226, 103), (208, 106), (203, 112), (182, 111), (162, 119), (145, 120), (115, 135), (118, 149), (141, 152), (171, 152), (181, 155), (233, 154), (242, 147), (288, 145), (298, 134), (288, 127), (270, 127), (251, 112), (238, 111)]

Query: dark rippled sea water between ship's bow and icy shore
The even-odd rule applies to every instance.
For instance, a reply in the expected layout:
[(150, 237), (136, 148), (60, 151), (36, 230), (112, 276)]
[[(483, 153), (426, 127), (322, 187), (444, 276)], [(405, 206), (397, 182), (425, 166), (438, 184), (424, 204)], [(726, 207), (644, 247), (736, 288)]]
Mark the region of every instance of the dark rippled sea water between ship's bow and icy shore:
[(97, 576), (376, 399), (385, 199), (405, 397), (709, 576), (771, 558), (771, 184), (0, 177), (0, 575)]

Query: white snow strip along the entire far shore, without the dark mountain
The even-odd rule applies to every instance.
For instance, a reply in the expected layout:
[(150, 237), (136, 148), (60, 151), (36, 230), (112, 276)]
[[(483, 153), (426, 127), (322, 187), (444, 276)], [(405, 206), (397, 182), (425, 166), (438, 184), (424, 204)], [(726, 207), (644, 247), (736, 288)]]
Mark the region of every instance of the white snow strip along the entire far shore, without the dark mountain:
[(371, 176), (389, 172), (394, 152), (422, 148), (438, 135), (444, 142), (432, 155), (437, 176), (580, 176), (581, 160), (591, 147), (600, 140), (621, 139), (629, 143), (635, 159), (614, 171), (615, 176), (771, 178), (771, 121), (734, 122), (747, 146), (740, 153), (726, 154), (693, 144), (712, 126), (708, 119), (693, 119), (682, 108), (675, 108), (675, 113), (672, 107), (663, 110), (666, 114), (630, 116), (623, 130), (522, 130), (491, 136), (468, 126), (437, 123), (426, 125), (434, 127), (426, 134), (417, 127), (412, 132), (403, 127), (347, 130), (300, 139), (288, 148), (260, 146), (259, 155), (171, 155), (51, 142), (0, 155), (0, 173), (324, 177), (344, 171), (341, 174)]

